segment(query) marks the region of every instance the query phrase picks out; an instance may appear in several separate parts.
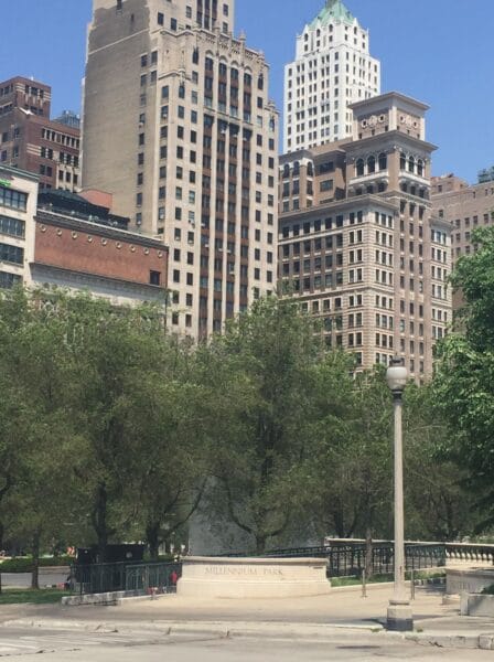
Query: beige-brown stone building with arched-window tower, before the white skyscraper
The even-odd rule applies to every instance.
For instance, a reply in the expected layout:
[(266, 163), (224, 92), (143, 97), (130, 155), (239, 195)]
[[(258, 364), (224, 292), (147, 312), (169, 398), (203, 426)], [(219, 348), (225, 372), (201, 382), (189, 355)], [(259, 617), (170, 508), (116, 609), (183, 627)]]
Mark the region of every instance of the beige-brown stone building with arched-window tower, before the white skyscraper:
[(398, 354), (417, 381), (451, 319), (450, 225), (430, 201), (427, 108), (398, 93), (354, 104), (351, 139), (280, 163), (284, 291), (363, 369)]

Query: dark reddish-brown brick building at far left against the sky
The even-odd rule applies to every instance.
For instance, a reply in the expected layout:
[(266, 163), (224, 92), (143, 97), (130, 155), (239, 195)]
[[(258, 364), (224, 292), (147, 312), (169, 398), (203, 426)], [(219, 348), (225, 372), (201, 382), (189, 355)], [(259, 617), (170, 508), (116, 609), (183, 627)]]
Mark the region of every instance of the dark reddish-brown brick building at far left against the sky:
[(51, 120), (52, 89), (17, 76), (0, 83), (0, 164), (39, 177), (41, 189), (76, 191), (79, 130)]

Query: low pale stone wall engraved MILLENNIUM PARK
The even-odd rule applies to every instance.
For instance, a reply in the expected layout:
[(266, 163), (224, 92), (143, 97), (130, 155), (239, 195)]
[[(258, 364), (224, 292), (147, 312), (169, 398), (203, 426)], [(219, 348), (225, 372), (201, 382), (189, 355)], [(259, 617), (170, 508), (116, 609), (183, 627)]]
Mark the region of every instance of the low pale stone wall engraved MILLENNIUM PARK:
[(324, 558), (183, 559), (176, 592), (191, 598), (293, 598), (326, 595)]

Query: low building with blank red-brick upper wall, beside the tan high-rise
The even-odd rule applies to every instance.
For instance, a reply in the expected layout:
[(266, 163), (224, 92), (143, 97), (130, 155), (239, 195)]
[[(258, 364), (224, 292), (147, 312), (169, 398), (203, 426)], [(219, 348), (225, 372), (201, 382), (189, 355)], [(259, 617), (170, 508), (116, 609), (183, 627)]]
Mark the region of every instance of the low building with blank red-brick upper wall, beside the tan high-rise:
[(168, 306), (168, 250), (128, 218), (61, 191), (39, 196), (31, 282), (87, 290), (116, 306)]

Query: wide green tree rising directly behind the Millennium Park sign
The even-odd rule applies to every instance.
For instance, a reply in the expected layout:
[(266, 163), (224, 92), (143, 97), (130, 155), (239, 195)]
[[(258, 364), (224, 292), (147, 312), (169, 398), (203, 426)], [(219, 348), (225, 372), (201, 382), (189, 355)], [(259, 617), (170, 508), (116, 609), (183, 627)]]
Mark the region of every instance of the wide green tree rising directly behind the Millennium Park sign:
[(210, 502), (256, 553), (300, 516), (313, 371), (312, 322), (292, 302), (257, 301), (203, 349), (213, 485)]

